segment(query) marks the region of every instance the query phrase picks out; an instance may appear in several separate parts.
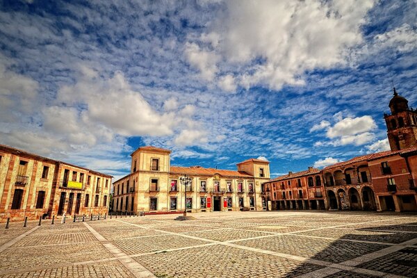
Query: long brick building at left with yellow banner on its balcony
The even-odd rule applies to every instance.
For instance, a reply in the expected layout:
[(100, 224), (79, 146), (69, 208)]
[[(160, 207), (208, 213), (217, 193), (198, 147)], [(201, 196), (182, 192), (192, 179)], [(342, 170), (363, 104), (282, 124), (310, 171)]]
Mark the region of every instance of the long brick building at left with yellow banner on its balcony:
[(0, 145), (0, 221), (108, 212), (112, 176)]

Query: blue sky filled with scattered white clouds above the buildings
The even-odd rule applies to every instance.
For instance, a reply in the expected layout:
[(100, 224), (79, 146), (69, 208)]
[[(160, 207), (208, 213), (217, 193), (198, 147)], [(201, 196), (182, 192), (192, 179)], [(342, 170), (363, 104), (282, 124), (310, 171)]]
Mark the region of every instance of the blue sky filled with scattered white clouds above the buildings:
[(113, 174), (272, 176), (388, 149), (391, 79), (417, 106), (416, 1), (2, 1), (1, 143)]

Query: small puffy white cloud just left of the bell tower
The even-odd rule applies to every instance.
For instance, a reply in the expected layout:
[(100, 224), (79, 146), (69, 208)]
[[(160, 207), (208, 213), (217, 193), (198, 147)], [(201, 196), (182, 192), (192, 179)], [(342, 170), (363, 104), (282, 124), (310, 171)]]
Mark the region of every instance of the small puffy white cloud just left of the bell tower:
[(375, 121), (370, 116), (346, 117), (327, 129), (326, 134), (328, 138), (354, 136), (358, 133), (371, 131), (376, 127)]

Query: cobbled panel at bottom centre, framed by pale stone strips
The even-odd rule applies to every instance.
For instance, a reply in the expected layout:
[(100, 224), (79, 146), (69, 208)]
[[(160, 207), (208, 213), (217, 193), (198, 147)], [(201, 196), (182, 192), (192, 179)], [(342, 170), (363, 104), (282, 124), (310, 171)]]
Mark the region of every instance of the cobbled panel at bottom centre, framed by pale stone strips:
[(220, 245), (139, 256), (135, 259), (157, 277), (295, 277), (322, 268), (319, 265)]

